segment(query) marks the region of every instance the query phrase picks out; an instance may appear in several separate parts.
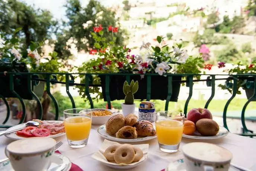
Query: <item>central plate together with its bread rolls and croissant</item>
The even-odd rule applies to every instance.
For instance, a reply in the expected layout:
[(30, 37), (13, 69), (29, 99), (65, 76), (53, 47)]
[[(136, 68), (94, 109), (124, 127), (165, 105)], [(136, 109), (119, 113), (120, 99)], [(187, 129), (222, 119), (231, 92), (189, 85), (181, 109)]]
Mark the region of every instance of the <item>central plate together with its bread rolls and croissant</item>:
[(156, 138), (156, 129), (147, 120), (138, 120), (135, 114), (115, 114), (106, 125), (97, 129), (97, 133), (105, 139), (121, 142), (140, 142)]

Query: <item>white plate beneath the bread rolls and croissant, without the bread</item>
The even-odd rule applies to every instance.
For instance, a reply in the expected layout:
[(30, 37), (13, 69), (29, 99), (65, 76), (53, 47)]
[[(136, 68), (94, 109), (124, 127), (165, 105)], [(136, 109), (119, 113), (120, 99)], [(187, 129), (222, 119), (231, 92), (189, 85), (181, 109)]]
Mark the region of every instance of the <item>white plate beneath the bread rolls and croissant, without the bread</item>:
[[(154, 126), (154, 129), (156, 129), (155, 126)], [(154, 136), (145, 136), (145, 137), (138, 136), (137, 138), (134, 138), (134, 139), (116, 138), (115, 135), (109, 135), (106, 132), (106, 125), (100, 126), (97, 129), (97, 133), (105, 139), (108, 139), (108, 140), (111, 140), (111, 141), (119, 141), (119, 142), (141, 142), (141, 141), (148, 141), (148, 140), (156, 138), (156, 135), (154, 135)]]

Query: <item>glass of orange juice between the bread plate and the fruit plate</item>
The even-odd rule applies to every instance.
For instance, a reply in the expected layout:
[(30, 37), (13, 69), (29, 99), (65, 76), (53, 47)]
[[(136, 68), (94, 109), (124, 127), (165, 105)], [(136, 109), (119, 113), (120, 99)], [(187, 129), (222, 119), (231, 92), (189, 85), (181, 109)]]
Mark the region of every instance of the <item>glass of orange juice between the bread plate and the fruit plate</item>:
[(180, 146), (185, 114), (180, 112), (156, 112), (156, 134), (163, 152), (177, 152)]

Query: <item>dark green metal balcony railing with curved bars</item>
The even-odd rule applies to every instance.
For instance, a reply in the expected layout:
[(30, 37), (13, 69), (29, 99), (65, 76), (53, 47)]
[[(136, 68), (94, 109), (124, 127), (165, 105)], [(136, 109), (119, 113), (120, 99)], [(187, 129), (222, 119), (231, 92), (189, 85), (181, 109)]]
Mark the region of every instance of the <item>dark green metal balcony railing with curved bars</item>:
[[(2, 73), (2, 75), (4, 75), (4, 73)], [(39, 77), (35, 77), (35, 75), (44, 75), (45, 79), (39, 78)], [(57, 80), (58, 76), (65, 76), (65, 81), (61, 82)], [(84, 75), (85, 77), (85, 83), (74, 83), (74, 75)], [(105, 76), (105, 95), (106, 95), (106, 101), (108, 103), (108, 107), (109, 109), (111, 108), (111, 98), (110, 98), (110, 94), (109, 94), (109, 88), (110, 88), (110, 77), (113, 75), (123, 75), (125, 76), (125, 79), (128, 81), (128, 83), (131, 80), (131, 76), (132, 75), (139, 75), (139, 74), (132, 74), (132, 73), (112, 73), (112, 74), (99, 74), (99, 73), (25, 73), (25, 72), (20, 72), (20, 73), (16, 73), (16, 72), (9, 72), (6, 74), (6, 77), (9, 77), (9, 84), (10, 84), (10, 91), (13, 93), (13, 95), (15, 97), (17, 97), (17, 99), (19, 99), (21, 106), (22, 106), (22, 117), (20, 119), (19, 123), (23, 123), (25, 120), (25, 116), (26, 116), (26, 107), (25, 107), (25, 103), (22, 99), (22, 97), (16, 93), (16, 91), (14, 90), (14, 85), (17, 85), (16, 83), (19, 83), (19, 78), (20, 77), (26, 77), (27, 81), (28, 81), (28, 91), (29, 93), (33, 96), (33, 98), (37, 101), (38, 106), (39, 106), (39, 116), (38, 119), (42, 119), (42, 104), (40, 102), (40, 99), (38, 98), (38, 96), (36, 96), (36, 94), (33, 92), (33, 88), (32, 86), (35, 85), (36, 82), (38, 81), (44, 81), (46, 82), (46, 91), (47, 94), (49, 95), (49, 97), (51, 98), (51, 100), (54, 103), (55, 106), (55, 120), (58, 120), (59, 117), (59, 107), (58, 107), (58, 102), (57, 100), (54, 98), (54, 96), (52, 96), (50, 88), (51, 88), (51, 84), (65, 84), (66, 87), (66, 93), (68, 95), (68, 97), (71, 100), (72, 103), (72, 107), (75, 108), (76, 104), (74, 102), (74, 99), (72, 97), (72, 95), (69, 92), (69, 87), (70, 86), (84, 86), (85, 87), (85, 94), (87, 96), (87, 99), (89, 100), (90, 103), (90, 107), (93, 109), (93, 100), (90, 96), (89, 93), (89, 86), (92, 87), (101, 87), (101, 84), (93, 84), (92, 82), (92, 75), (98, 75), (98, 76)], [(154, 81), (152, 79), (152, 76), (154, 75), (158, 75), (158, 74), (145, 74), (145, 78), (147, 79), (147, 86), (146, 86), (146, 90), (147, 90), (147, 94), (145, 99), (147, 99), (148, 101), (151, 100), (151, 81)], [(166, 104), (165, 104), (165, 110), (168, 109), (168, 105), (169, 105), (169, 101), (172, 97), (173, 94), (173, 87), (172, 87), (172, 83), (173, 83), (173, 77), (175, 76), (182, 76), (183, 78), (185, 78), (185, 80), (179, 81), (179, 83), (184, 83), (186, 84), (187, 87), (189, 87), (189, 96), (185, 102), (185, 106), (184, 106), (184, 113), (186, 114), (188, 111), (188, 104), (189, 101), (191, 100), (192, 97), (192, 93), (193, 93), (193, 83), (194, 82), (199, 82), (199, 81), (206, 81), (206, 85), (208, 87), (212, 87), (211, 88), (211, 96), (209, 97), (209, 99), (207, 100), (206, 104), (205, 104), (205, 108), (208, 108), (209, 103), (211, 103), (211, 100), (214, 98), (215, 96), (215, 81), (217, 80), (226, 80), (226, 86), (228, 88), (232, 88), (233, 93), (230, 97), (230, 99), (227, 100), (227, 103), (225, 104), (224, 107), (224, 111), (223, 111), (223, 124), (224, 127), (226, 129), (228, 129), (227, 126), (227, 109), (228, 106), (230, 104), (230, 102), (234, 99), (234, 97), (236, 96), (236, 92), (237, 92), (237, 84), (239, 80), (246, 80), (246, 87), (247, 88), (253, 88), (253, 95), (252, 97), (250, 97), (248, 99), (248, 101), (244, 104), (243, 109), (241, 111), (241, 123), (243, 125), (243, 129), (244, 129), (244, 133), (240, 134), (240, 135), (244, 135), (244, 136), (256, 136), (256, 134), (253, 134), (252, 131), (250, 131), (249, 129), (247, 129), (246, 127), (246, 123), (245, 123), (245, 110), (246, 107), (248, 106), (248, 104), (253, 101), (253, 99), (256, 98), (256, 75), (252, 75), (252, 74), (237, 74), (237, 75), (225, 75), (225, 74), (202, 74), (202, 75), (207, 75), (207, 79), (205, 80), (193, 80), (193, 78), (196, 75), (201, 75), (201, 74), (166, 74), (166, 77), (168, 79), (168, 89), (167, 89), (167, 98), (166, 98)], [(216, 78), (216, 76), (223, 76), (223, 77), (228, 77), (228, 78)], [(162, 76), (159, 76), (162, 77)], [(21, 83), (20, 83), (21, 84)], [(6, 114), (6, 118), (4, 120), (4, 122), (0, 125), (0, 128), (9, 128), (10, 125), (6, 125), (6, 122), (8, 121), (9, 117), (10, 117), (10, 107), (6, 101), (6, 97), (2, 96), (0, 94), (0, 98), (3, 99), (4, 103), (7, 106), (7, 114)], [(229, 129), (228, 129), (229, 130)]]

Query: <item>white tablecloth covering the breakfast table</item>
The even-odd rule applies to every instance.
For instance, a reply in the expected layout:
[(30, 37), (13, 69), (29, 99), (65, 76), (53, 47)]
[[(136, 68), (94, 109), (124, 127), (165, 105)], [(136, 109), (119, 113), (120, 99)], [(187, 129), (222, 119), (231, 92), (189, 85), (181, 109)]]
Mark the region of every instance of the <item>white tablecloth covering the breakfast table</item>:
[[(70, 158), (74, 164), (77, 164), (84, 171), (115, 171), (91, 158), (91, 155), (98, 151), (104, 140), (104, 138), (101, 138), (97, 134), (96, 130), (98, 127), (99, 126), (95, 125), (92, 126), (88, 144), (84, 148), (70, 148), (67, 144), (66, 136), (56, 138), (57, 141), (63, 141), (64, 143), (60, 148), (58, 148), (58, 150), (63, 155)], [(0, 159), (6, 158), (4, 148), (10, 142), (12, 142), (12, 140), (7, 139), (5, 136), (0, 136)], [(147, 160), (131, 171), (160, 171), (166, 168), (169, 162), (183, 158), (183, 154), (181, 152), (182, 145), (189, 142), (209, 142), (223, 146), (233, 153), (231, 163), (252, 171), (256, 171), (256, 139), (239, 136), (232, 133), (229, 133), (224, 138), (214, 140), (193, 140), (182, 138), (180, 149), (174, 154), (161, 152), (157, 144), (157, 139), (133, 143), (148, 143), (149, 152)]]

